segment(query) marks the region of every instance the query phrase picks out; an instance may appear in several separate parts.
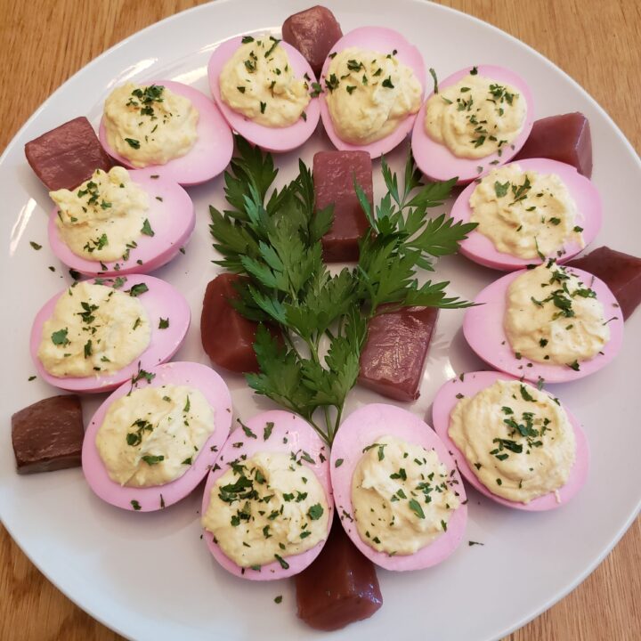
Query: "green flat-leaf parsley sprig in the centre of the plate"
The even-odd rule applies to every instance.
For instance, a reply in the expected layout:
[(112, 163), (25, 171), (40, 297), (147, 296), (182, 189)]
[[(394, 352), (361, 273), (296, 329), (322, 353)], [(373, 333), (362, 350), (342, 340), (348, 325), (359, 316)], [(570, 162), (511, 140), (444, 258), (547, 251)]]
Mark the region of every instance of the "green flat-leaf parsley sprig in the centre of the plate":
[[(321, 238), (333, 212), (315, 210), (310, 169), (299, 160), (298, 175), (279, 191), (272, 188), (278, 174), (272, 156), (240, 137), (236, 144), (239, 155), (224, 174), (230, 208), (209, 210), (221, 256), (215, 263), (248, 277), (231, 303), (261, 323), (254, 345), (260, 370), (246, 375), (247, 384), (300, 414), (331, 443), (359, 374), (367, 323), (380, 305), (469, 305), (446, 295), (447, 282), (419, 285), (417, 270), (434, 271), (434, 257), (455, 252), (475, 224), (427, 217), (450, 196), (456, 179), (424, 184), (410, 157), (401, 187), (383, 160), (388, 193), (377, 207), (354, 186), (370, 223), (359, 263), (329, 272)], [(317, 410), (324, 427), (316, 422)]]

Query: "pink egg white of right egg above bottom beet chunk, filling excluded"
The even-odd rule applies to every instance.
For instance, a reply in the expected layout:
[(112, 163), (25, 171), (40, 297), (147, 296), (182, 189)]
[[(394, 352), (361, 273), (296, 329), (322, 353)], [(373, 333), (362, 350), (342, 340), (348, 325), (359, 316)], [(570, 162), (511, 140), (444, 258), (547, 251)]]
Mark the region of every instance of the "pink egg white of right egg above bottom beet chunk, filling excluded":
[[(439, 460), (448, 470), (449, 483), (452, 483), (451, 487), (460, 501), (459, 507), (450, 514), (447, 530), (412, 555), (389, 556), (371, 548), (361, 539), (353, 520), (354, 470), (363, 456), (363, 450), (386, 434), (420, 445), (426, 450), (435, 450)], [(385, 403), (371, 403), (354, 411), (337, 431), (332, 444), (330, 469), (334, 502), (345, 532), (362, 554), (373, 563), (386, 570), (420, 570), (442, 563), (458, 548), (467, 524), (467, 499), (463, 483), (448, 448), (425, 421), (410, 411)]]

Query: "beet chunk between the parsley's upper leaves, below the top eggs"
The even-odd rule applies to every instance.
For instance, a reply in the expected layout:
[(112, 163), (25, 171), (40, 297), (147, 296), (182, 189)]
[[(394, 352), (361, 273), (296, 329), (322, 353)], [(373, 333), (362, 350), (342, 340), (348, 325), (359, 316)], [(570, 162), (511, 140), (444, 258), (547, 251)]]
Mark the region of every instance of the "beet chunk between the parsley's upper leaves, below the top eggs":
[(367, 151), (319, 151), (314, 155), (316, 209), (334, 206), (334, 223), (321, 240), (323, 257), (329, 263), (358, 260), (359, 240), (369, 229), (354, 179), (371, 205), (372, 167)]

